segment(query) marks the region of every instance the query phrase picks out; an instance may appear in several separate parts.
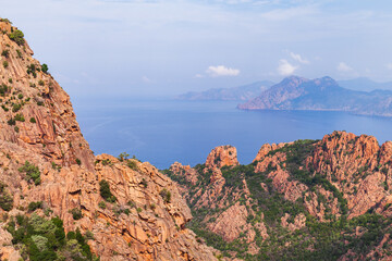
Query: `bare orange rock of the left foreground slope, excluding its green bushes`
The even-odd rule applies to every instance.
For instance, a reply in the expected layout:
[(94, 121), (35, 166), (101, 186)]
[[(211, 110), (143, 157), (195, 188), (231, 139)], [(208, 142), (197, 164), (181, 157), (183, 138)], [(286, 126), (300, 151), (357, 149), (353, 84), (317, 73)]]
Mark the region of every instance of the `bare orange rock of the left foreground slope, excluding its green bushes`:
[[(102, 261), (217, 260), (213, 256), (217, 250), (198, 243), (196, 235), (185, 227), (192, 214), (176, 184), (148, 162), (131, 160), (134, 164), (131, 169), (127, 162), (112, 156), (94, 157), (70, 97), (50, 74), (41, 71), (35, 72), (36, 77), (28, 74), (28, 66), (40, 64), (32, 58), (27, 42), (20, 47), (10, 40), (2, 33), (11, 30), (8, 23), (0, 22), (0, 49), (10, 50), (9, 67), (0, 70), (0, 85), (9, 85), (12, 78), (12, 92), (21, 97), (13, 102), (24, 100), (13, 111), (10, 103), (5, 104), (12, 92), (2, 97), (9, 111), (0, 114), (0, 179), (14, 197), (9, 215), (28, 215), (27, 206), (42, 201), (44, 208), (52, 211), (49, 217), (61, 217), (66, 232), (76, 227), (93, 232), (95, 239), (88, 244)], [(25, 119), (16, 122), (17, 128), (7, 123), (16, 114)], [(40, 185), (27, 183), (25, 174), (17, 171), (25, 161), (38, 166)], [(187, 171), (192, 172), (189, 167)], [(103, 201), (99, 194), (102, 179), (117, 198), (115, 203), (107, 202), (105, 209), (98, 206)], [(81, 220), (74, 220), (70, 213), (74, 208), (81, 209)], [(3, 213), (0, 209), (0, 216)], [(44, 215), (41, 210), (37, 213)], [(21, 258), (11, 239), (0, 226), (1, 260)]]

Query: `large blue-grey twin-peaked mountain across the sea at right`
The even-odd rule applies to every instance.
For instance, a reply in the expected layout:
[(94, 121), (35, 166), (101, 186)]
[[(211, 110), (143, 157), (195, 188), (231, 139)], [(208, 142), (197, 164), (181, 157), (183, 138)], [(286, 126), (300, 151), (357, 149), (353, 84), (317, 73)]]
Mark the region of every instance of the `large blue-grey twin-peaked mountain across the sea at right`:
[(307, 79), (291, 76), (237, 108), (347, 111), (364, 115), (392, 116), (392, 91), (356, 91), (341, 87), (331, 77)]

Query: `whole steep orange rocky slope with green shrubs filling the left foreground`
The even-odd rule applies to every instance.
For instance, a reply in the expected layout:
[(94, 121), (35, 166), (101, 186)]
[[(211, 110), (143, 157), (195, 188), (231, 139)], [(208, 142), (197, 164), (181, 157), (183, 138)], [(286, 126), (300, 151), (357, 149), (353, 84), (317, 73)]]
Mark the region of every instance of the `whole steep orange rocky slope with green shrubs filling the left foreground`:
[(170, 178), (93, 154), (69, 96), (7, 20), (0, 53), (1, 260), (216, 260)]

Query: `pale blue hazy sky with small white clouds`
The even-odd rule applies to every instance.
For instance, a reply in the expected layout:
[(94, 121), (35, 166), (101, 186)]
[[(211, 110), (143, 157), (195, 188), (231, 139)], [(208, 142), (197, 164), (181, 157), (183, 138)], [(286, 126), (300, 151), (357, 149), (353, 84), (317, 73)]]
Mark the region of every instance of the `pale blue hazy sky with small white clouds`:
[(390, 0), (0, 0), (0, 16), (72, 96), (392, 80)]

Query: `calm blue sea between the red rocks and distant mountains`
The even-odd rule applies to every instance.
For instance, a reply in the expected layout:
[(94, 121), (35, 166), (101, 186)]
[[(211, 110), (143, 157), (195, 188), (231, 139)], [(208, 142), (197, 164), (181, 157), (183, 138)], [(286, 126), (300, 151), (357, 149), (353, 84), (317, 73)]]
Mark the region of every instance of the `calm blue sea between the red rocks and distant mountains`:
[(248, 164), (268, 142), (321, 139), (333, 130), (392, 139), (392, 119), (343, 112), (241, 111), (237, 102), (132, 100), (73, 101), (84, 137), (95, 154), (126, 151), (159, 169), (179, 161), (204, 163), (217, 146), (237, 148)]

